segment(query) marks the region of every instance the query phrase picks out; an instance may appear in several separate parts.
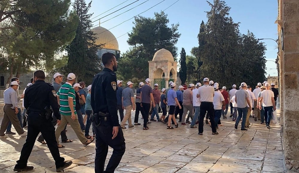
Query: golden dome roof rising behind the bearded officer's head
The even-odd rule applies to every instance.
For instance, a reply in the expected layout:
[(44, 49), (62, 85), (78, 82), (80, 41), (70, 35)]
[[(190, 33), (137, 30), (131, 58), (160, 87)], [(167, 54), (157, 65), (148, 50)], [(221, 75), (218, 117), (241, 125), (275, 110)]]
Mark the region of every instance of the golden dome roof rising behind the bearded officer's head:
[(115, 36), (106, 28), (103, 27), (95, 27), (91, 29), (92, 32), (94, 32), (95, 37), (97, 37), (95, 44), (101, 45), (104, 44), (102, 48), (105, 49), (112, 49), (112, 50), (118, 50), (118, 42), (115, 38)]

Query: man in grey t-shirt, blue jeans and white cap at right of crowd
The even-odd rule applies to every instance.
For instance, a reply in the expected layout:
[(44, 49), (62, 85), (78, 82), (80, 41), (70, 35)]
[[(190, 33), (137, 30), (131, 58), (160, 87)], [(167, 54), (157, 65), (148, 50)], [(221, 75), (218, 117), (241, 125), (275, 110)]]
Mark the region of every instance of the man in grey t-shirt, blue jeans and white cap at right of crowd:
[(246, 117), (248, 112), (247, 105), (249, 105), (249, 109), (251, 109), (251, 104), (249, 100), (249, 94), (247, 91), (245, 91), (245, 89), (247, 88), (247, 84), (245, 82), (242, 82), (241, 87), (242, 88), (240, 88), (235, 95), (235, 100), (238, 106), (237, 109), (239, 113), (239, 116), (235, 123), (235, 129), (238, 129), (238, 124), (242, 118), (241, 130), (247, 130), (245, 129)]

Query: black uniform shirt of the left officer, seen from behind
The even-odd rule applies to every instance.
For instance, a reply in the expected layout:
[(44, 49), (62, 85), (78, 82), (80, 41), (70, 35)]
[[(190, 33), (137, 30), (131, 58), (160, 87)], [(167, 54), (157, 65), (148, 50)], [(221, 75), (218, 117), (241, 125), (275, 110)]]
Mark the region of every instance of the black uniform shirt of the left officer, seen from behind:
[(37, 80), (25, 91), (24, 107), (29, 108), (29, 111), (45, 112), (46, 106), (51, 106), (57, 120), (61, 120), (54, 87), (43, 80)]

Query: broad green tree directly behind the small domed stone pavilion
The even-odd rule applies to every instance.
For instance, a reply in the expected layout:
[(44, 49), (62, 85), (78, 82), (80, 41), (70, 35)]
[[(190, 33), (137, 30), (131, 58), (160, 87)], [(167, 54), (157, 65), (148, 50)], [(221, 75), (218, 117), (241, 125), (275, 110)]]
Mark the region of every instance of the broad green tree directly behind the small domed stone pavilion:
[(177, 56), (175, 44), (181, 35), (178, 33), (179, 24), (168, 27), (168, 23), (164, 12), (155, 13), (155, 18), (135, 17), (133, 30), (127, 41), (131, 47), (120, 57), (118, 78), (144, 81), (149, 73), (148, 61), (162, 48), (169, 50), (173, 57)]

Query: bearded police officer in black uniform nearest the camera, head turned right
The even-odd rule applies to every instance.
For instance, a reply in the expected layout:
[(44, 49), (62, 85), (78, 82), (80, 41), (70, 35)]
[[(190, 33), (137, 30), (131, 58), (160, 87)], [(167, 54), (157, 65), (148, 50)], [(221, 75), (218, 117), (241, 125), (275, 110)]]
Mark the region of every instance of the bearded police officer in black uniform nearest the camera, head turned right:
[[(95, 172), (114, 172), (126, 144), (120, 128), (117, 115), (116, 74), (117, 61), (113, 53), (104, 53), (102, 62), (105, 66), (98, 73), (91, 85), (91, 107), (94, 115), (91, 116), (93, 130), (96, 135)], [(113, 148), (113, 154), (104, 171), (108, 146)]]

